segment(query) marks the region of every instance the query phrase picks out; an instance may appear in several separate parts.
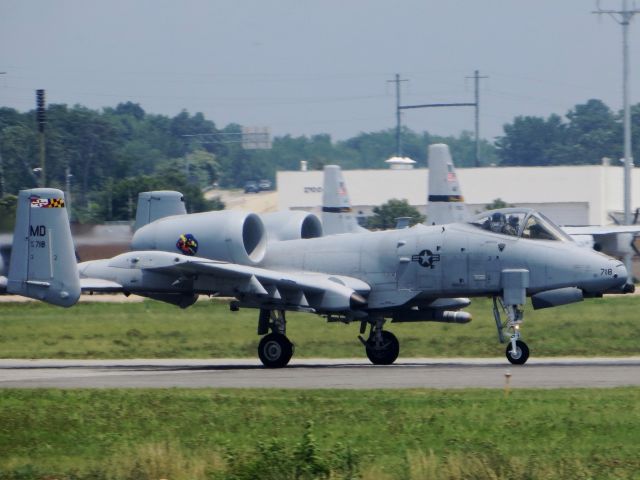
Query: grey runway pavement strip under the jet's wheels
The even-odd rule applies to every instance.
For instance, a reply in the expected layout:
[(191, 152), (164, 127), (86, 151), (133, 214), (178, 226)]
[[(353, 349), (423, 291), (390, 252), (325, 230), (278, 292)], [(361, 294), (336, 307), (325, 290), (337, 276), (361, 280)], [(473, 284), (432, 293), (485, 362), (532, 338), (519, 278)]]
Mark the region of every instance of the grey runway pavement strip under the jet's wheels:
[(640, 385), (640, 357), (292, 360), (269, 370), (258, 360), (0, 360), (0, 388), (513, 388)]

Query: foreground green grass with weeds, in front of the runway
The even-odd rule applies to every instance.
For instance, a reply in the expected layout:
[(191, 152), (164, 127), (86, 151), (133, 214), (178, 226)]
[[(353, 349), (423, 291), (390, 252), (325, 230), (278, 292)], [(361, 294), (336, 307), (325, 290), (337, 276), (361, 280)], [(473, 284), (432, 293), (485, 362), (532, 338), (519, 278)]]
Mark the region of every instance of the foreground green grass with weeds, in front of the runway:
[(640, 478), (640, 389), (1, 391), (32, 478)]

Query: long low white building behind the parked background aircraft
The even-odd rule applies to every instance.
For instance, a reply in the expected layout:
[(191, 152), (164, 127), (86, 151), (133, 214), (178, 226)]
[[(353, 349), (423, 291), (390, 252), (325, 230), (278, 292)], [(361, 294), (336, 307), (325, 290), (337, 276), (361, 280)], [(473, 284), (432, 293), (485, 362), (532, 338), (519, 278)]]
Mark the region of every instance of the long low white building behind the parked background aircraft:
[[(354, 210), (362, 216), (392, 198), (406, 199), (424, 213), (427, 169), (343, 171)], [(589, 165), (457, 169), (469, 210), (484, 210), (500, 198), (540, 210), (561, 225), (605, 225), (623, 210), (623, 168)], [(278, 208), (317, 211), (322, 203), (322, 171), (277, 174)], [(640, 207), (640, 172), (633, 171), (632, 208)]]

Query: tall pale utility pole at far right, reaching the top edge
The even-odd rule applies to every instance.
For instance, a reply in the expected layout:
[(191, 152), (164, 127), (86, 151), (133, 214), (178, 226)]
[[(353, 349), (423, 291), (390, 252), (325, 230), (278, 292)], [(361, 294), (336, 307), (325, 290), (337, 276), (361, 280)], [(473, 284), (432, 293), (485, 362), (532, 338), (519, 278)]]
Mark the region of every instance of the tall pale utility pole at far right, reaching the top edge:
[[(622, 105), (624, 109), (624, 224), (631, 225), (631, 172), (633, 156), (631, 153), (631, 112), (629, 110), (629, 24), (640, 10), (629, 9), (627, 0), (622, 0), (621, 10), (604, 10), (600, 8), (600, 1), (596, 2), (597, 10), (591, 13), (602, 15), (606, 13), (616, 23), (622, 25)], [(633, 283), (631, 254), (624, 256), (624, 263), (629, 272), (629, 283)]]

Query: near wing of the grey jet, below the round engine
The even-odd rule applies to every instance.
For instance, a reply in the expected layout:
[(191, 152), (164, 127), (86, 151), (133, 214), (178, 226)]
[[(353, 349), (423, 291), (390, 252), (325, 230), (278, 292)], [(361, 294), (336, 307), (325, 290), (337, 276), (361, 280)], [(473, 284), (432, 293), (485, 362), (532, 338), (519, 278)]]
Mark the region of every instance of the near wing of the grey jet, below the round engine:
[[(167, 286), (174, 287), (175, 292), (180, 285), (193, 282), (194, 291), (236, 297), (251, 306), (275, 305), (317, 312), (350, 311), (364, 306), (370, 291), (367, 283), (352, 277), (281, 272), (160, 251), (128, 252), (108, 261), (85, 262), (79, 268), (85, 277), (81, 279), (85, 291), (144, 295), (166, 291)], [(159, 274), (163, 280), (158, 285), (165, 287), (154, 288), (148, 278), (144, 288), (128, 286), (127, 278), (141, 274)]]

